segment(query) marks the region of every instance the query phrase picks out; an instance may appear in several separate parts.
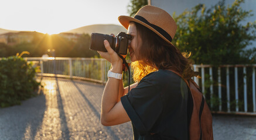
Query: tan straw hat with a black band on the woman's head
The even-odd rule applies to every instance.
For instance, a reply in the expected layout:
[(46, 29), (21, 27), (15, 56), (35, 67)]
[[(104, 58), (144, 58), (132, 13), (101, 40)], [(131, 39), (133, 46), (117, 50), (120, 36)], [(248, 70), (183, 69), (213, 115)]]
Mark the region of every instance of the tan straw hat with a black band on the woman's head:
[(134, 17), (119, 16), (118, 20), (126, 29), (128, 29), (130, 22), (142, 24), (170, 44), (172, 44), (171, 41), (177, 29), (175, 21), (168, 12), (151, 5), (143, 6)]

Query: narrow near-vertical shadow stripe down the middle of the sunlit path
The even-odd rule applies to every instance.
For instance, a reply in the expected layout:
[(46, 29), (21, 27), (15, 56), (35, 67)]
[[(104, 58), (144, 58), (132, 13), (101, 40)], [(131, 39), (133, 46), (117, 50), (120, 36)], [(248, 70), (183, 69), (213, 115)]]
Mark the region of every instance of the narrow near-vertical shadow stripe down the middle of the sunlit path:
[(67, 118), (64, 112), (63, 108), (63, 101), (62, 96), (60, 95), (60, 88), (59, 88), (59, 81), (58, 78), (56, 78), (56, 96), (57, 96), (57, 104), (58, 104), (58, 110), (60, 114), (60, 129), (62, 131), (62, 139), (70, 139), (70, 132), (69, 128), (67, 127)]

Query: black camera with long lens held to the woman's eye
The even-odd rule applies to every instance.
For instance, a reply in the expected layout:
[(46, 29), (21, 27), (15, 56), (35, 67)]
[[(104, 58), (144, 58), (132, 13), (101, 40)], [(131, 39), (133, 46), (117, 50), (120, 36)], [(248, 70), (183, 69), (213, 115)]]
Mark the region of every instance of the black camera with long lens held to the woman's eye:
[(108, 34), (91, 33), (90, 50), (107, 52), (103, 41), (108, 40), (111, 48), (117, 53), (126, 55), (131, 35), (120, 32), (116, 37)]

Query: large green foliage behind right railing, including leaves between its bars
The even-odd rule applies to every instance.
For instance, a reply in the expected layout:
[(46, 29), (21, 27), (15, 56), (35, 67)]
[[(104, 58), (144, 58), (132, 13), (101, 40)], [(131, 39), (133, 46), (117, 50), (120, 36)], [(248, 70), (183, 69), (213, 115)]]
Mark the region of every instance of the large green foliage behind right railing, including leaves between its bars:
[[(195, 6), (192, 10), (185, 10), (181, 15), (174, 15), (178, 25), (176, 36), (173, 40), (181, 51), (192, 53), (192, 60), (195, 64), (211, 64), (218, 66), (221, 64), (255, 64), (256, 48), (245, 50), (251, 45), (251, 41), (256, 38), (256, 22), (245, 22), (247, 17), (252, 16), (251, 11), (241, 9), (244, 0), (237, 0), (231, 6), (226, 6), (222, 0), (211, 8), (206, 8), (203, 4)], [(212, 104), (211, 110), (219, 110), (219, 104), (223, 104), (222, 110), (227, 111), (227, 89), (226, 69), (221, 72), (221, 100), (218, 95), (217, 67), (213, 71), (213, 80), (206, 78), (204, 95), (207, 102)], [(205, 71), (208, 71), (208, 69)], [(243, 68), (238, 68), (238, 79), (243, 79)], [(252, 79), (252, 70), (248, 68), (248, 79)], [(230, 81), (234, 81), (234, 69), (230, 68)], [(248, 82), (247, 82), (248, 83)], [(213, 95), (210, 97), (210, 85), (213, 84)], [(243, 80), (238, 81), (239, 93), (243, 93)], [(230, 82), (230, 93), (235, 93), (234, 82)], [(251, 97), (251, 83), (248, 83), (248, 97)], [(235, 95), (230, 95), (231, 111), (235, 110)], [(239, 94), (238, 107), (244, 110), (244, 97)], [(248, 102), (248, 110), (252, 110), (252, 103)]]

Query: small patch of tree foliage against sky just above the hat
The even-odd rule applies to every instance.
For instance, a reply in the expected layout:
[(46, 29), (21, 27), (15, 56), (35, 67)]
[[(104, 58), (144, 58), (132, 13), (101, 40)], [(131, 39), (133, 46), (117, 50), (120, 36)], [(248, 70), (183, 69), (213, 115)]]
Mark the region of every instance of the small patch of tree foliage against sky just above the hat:
[(148, 4), (148, 0), (131, 0), (131, 4), (128, 7), (129, 16), (134, 16), (139, 9)]

